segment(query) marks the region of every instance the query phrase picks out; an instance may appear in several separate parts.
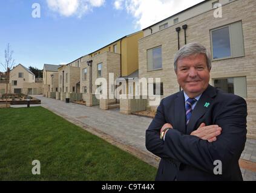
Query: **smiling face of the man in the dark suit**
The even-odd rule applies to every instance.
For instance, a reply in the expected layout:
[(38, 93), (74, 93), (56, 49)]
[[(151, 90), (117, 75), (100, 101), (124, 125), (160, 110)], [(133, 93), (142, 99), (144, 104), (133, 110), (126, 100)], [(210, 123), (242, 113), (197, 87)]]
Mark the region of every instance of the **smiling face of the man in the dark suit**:
[(190, 97), (200, 95), (209, 84), (209, 69), (205, 54), (191, 55), (177, 62), (177, 80)]

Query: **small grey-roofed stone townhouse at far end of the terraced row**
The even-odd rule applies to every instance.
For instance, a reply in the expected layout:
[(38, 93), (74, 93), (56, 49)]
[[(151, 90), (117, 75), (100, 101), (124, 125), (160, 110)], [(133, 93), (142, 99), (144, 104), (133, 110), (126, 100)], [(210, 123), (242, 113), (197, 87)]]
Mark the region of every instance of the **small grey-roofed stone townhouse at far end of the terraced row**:
[(43, 70), (43, 93), (57, 92), (59, 87), (58, 68), (61, 65), (44, 65)]

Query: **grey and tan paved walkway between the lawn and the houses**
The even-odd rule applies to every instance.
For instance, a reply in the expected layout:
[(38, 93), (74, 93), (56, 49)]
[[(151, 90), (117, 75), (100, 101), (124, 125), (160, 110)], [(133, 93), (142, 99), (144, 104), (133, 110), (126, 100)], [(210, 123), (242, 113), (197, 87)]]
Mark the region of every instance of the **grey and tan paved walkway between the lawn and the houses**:
[[(145, 147), (145, 130), (151, 123), (151, 118), (123, 115), (117, 110), (101, 110), (98, 106), (87, 107), (64, 103), (43, 96), (36, 96), (36, 98), (41, 100), (43, 107), (57, 115), (134, 154), (145, 162), (157, 166), (159, 158), (149, 153)], [(246, 141), (241, 159), (244, 159), (241, 160), (243, 163), (248, 160), (252, 165), (256, 164), (256, 140), (248, 139)], [(256, 171), (252, 170), (254, 169), (241, 169), (244, 180), (256, 181)]]

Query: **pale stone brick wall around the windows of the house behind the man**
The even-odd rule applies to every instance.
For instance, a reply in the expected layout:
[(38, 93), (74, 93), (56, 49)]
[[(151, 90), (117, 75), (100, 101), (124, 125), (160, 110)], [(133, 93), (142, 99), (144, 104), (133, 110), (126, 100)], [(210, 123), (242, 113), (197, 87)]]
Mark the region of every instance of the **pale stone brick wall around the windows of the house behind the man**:
[[(239, 14), (238, 14), (239, 13)], [(214, 10), (206, 11), (176, 25), (139, 40), (139, 77), (158, 77), (163, 83), (163, 97), (178, 92), (174, 72), (174, 54), (178, 50), (176, 28), (188, 25), (187, 43), (199, 42), (211, 51), (210, 30), (241, 21), (245, 56), (212, 62), (211, 80), (214, 78), (246, 77), (248, 103), (248, 136), (256, 138), (256, 1), (237, 0), (222, 6), (222, 18), (214, 17)], [(185, 44), (184, 31), (180, 31), (180, 46)], [(147, 70), (147, 50), (162, 46), (162, 69)], [(156, 107), (151, 107), (156, 109)]]

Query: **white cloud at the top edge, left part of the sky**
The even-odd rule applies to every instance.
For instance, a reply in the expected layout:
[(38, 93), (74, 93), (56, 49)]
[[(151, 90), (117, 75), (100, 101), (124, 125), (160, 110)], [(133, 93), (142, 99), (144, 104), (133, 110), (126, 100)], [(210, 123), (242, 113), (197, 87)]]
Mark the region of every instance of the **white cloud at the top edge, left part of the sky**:
[(105, 0), (47, 0), (47, 5), (52, 11), (65, 17), (82, 17), (92, 11), (93, 7), (101, 7), (104, 3)]

